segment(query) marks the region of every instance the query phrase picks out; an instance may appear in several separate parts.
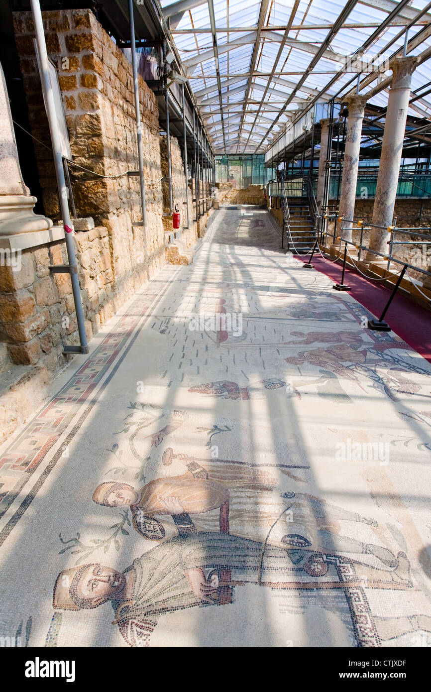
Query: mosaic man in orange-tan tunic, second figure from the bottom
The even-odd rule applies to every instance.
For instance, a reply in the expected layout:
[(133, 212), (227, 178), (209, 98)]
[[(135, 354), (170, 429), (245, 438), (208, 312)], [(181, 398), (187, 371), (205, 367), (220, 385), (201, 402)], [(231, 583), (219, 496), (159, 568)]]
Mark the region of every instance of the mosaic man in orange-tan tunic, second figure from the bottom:
[[(171, 455), (164, 454), (171, 456), (172, 450)], [(129, 505), (136, 530), (153, 540), (165, 537), (163, 525), (154, 518), (170, 515), (180, 535), (197, 528), (264, 540), (268, 527), (273, 527), (272, 540), (279, 546), (374, 556), (389, 569), (396, 565), (396, 557), (386, 547), (349, 536), (356, 532), (356, 522), (375, 527), (375, 520), (307, 493), (287, 492), (281, 499), (272, 492), (275, 479), (265, 471), (209, 460), (203, 468), (194, 457), (181, 457), (188, 473), (157, 478), (140, 491), (127, 483), (104, 482), (93, 493), (94, 502), (108, 507)], [(217, 515), (214, 509), (219, 509)]]

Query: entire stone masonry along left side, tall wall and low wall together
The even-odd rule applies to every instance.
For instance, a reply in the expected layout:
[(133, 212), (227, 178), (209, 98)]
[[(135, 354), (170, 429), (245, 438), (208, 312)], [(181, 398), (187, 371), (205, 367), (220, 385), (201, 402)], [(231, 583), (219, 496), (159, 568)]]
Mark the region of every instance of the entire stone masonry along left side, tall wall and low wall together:
[[(143, 228), (138, 177), (127, 175), (138, 170), (131, 64), (90, 10), (43, 12), (43, 18), (71, 142), (73, 164), (69, 170), (77, 217), (93, 217), (95, 224), (92, 228), (90, 219), (90, 230), (73, 236), (86, 334), (91, 339), (163, 264), (192, 261), (192, 246), (205, 232), (208, 214), (198, 223), (193, 221), (196, 214), (190, 194), (190, 228), (179, 229), (171, 244), (172, 234), (165, 231), (172, 231), (172, 217), (163, 216), (168, 210), (161, 178), (167, 174), (167, 161), (159, 136), (158, 106), (154, 93), (139, 77), (147, 202)], [(53, 154), (46, 148), (51, 147), (51, 138), (31, 13), (15, 12), (14, 24), (30, 127), (41, 142), (34, 145), (44, 211), (58, 226), (49, 239), (35, 237), (33, 244), (22, 245), (19, 271), (7, 262), (0, 263), (0, 373), (4, 385), (0, 388), (0, 423), (5, 435), (24, 421), (31, 401), (42, 403), (52, 375), (72, 357), (64, 355), (63, 345), (79, 344), (70, 277), (51, 275), (48, 268), (67, 264), (67, 256)], [(185, 176), (175, 138), (171, 147), (174, 199), (183, 226), (187, 219)], [(76, 224), (76, 228), (82, 226)]]

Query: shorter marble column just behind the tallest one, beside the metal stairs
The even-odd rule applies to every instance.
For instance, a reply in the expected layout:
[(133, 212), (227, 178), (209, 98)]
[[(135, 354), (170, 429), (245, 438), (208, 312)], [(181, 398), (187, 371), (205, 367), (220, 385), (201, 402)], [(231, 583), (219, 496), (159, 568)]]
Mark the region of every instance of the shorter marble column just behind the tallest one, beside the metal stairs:
[[(354, 94), (346, 99), (349, 116), (347, 118), (345, 156), (342, 165), (340, 192), (340, 217), (353, 219), (356, 201), (356, 183), (360, 152), (360, 136), (364, 119), (367, 96)], [(345, 221), (342, 226), (351, 229), (351, 222)], [(340, 227), (341, 232), (341, 227)], [(342, 237), (351, 240), (351, 230), (343, 230)]]

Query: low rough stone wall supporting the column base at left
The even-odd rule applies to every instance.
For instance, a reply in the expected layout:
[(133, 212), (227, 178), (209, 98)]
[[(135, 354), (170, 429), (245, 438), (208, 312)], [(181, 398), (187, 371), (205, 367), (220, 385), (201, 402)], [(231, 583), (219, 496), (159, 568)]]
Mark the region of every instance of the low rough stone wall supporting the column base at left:
[[(120, 307), (113, 285), (108, 230), (93, 228), (74, 237), (87, 338)], [(63, 343), (79, 344), (68, 274), (51, 275), (48, 265), (66, 264), (64, 240), (27, 248), (21, 268), (0, 266), (0, 339), (12, 363), (64, 365)]]

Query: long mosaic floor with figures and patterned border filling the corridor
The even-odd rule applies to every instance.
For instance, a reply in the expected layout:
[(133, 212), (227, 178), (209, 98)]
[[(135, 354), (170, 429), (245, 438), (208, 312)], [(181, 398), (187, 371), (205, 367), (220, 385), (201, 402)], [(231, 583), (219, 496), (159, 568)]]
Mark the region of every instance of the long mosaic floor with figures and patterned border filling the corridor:
[(431, 364), (215, 212), (0, 449), (21, 646), (430, 646)]

